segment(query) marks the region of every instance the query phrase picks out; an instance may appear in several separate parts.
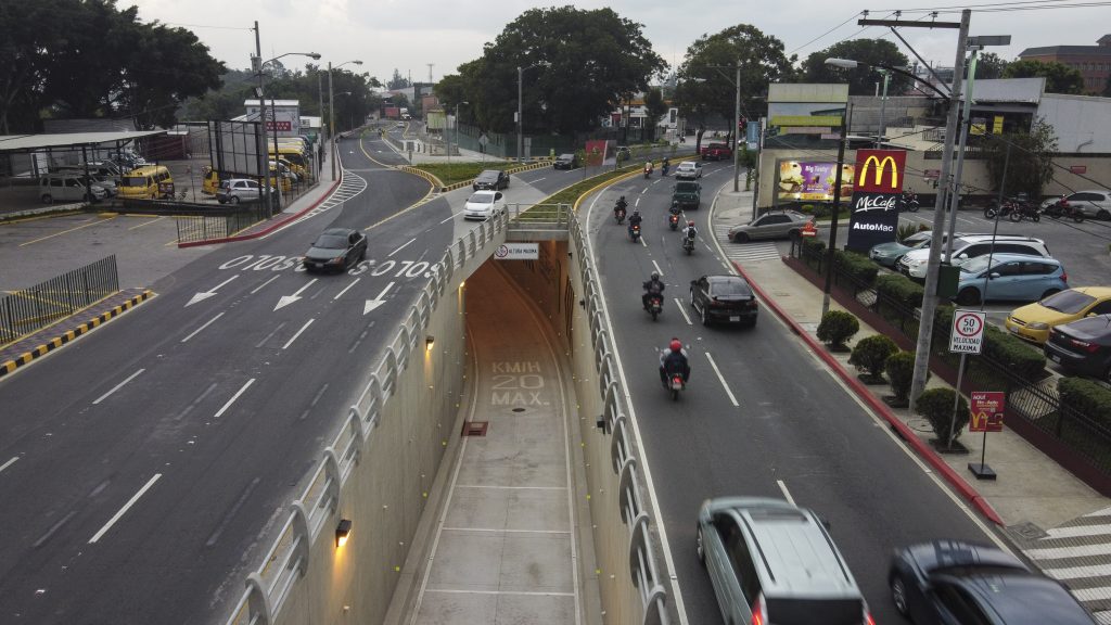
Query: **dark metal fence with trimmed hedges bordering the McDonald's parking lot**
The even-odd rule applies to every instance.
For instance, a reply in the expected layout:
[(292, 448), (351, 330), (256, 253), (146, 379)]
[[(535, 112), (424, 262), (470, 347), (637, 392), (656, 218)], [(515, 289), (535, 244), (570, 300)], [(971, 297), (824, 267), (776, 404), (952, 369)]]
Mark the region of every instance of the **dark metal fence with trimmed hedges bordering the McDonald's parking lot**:
[[(808, 267), (823, 274), (828, 262), (825, 250), (817, 250), (802, 242), (792, 244), (791, 256)], [(872, 285), (863, 284), (845, 268), (834, 264), (833, 284), (851, 292), (861, 305), (877, 312), (910, 339), (917, 339), (921, 310), (908, 308), (903, 302), (878, 292)], [(958, 356), (944, 351), (949, 345), (948, 324), (933, 325), (933, 356), (955, 369)], [(969, 359), (962, 380), (962, 390), (990, 389), (1007, 393), (1008, 418), (1020, 418), (1023, 425), (1037, 430), (1044, 438), (1059, 444), (1068, 454), (1080, 456), (1103, 476), (1111, 476), (1111, 427), (1093, 415), (1061, 403), (1058, 377), (1048, 370), (1024, 377), (1013, 367), (983, 353)], [(1050, 453), (1048, 449), (1042, 449)]]

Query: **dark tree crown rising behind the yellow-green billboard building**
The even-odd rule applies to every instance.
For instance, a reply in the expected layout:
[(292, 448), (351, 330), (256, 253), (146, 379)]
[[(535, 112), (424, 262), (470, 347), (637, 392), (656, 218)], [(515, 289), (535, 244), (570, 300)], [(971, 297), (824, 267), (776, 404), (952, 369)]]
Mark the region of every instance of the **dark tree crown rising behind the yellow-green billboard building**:
[[(843, 69), (825, 65), (825, 59), (850, 59), (867, 67)], [(849, 82), (850, 96), (871, 96), (875, 85), (883, 78), (877, 73), (877, 66), (905, 67), (910, 61), (899, 48), (887, 39), (851, 39), (839, 41), (824, 50), (813, 52), (802, 61), (803, 82)], [(910, 79), (891, 73), (888, 93), (903, 93), (910, 88)]]

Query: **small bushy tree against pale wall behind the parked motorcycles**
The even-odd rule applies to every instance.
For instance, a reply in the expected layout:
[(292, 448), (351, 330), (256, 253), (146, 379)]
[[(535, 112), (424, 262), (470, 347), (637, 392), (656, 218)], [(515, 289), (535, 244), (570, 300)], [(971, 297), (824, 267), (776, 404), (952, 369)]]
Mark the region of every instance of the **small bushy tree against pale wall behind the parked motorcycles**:
[[(1008, 157), (1010, 146), (1010, 157)], [(1008, 132), (991, 135), (983, 142), (988, 173), (994, 189), (1002, 185), (1003, 191), (1013, 196), (1021, 191), (1031, 198), (1040, 198), (1042, 187), (1053, 179), (1053, 153), (1057, 152), (1057, 137), (1053, 127), (1039, 118), (1030, 132)], [(1007, 162), (1007, 180), (1003, 180), (1003, 163)]]

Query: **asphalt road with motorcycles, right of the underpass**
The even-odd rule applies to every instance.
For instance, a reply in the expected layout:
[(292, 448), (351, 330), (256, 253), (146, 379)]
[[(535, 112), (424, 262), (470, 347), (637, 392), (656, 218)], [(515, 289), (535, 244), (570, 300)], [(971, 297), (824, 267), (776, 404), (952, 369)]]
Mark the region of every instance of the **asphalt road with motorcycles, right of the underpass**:
[[(705, 244), (712, 238), (711, 200), (730, 181), (731, 169), (707, 165), (705, 170), (702, 207), (687, 214), (701, 239), (690, 257), (680, 235), (667, 229), (669, 180), (635, 177), (580, 209), (588, 211), (685, 622), (721, 618), (694, 555), (702, 500), (787, 494), (831, 523), (877, 622), (898, 622), (885, 581), (891, 549), (934, 537), (989, 540), (988, 529), (768, 309), (751, 330), (692, 323), (690, 281), (729, 270)], [(613, 222), (618, 195), (634, 199), (644, 215), (643, 245), (630, 242), (625, 228)], [(653, 269), (668, 285), (664, 312), (654, 323), (641, 309), (639, 289)], [(691, 346), (693, 369), (675, 403), (660, 386), (655, 351), (673, 336)]]

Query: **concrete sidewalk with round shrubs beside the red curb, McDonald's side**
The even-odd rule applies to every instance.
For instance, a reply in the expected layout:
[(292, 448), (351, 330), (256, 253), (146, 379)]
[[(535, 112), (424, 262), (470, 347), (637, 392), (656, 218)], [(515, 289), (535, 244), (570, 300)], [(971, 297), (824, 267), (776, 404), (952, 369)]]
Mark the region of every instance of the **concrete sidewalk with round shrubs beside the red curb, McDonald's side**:
[[(751, 218), (751, 192), (722, 191), (718, 196), (711, 214), (711, 231), (722, 249), (737, 254), (734, 250), (741, 246), (728, 241), (720, 232)], [(795, 272), (778, 254), (775, 257), (735, 261), (734, 265), (763, 292), (769, 308), (778, 309), (784, 321), (805, 335), (800, 335), (803, 340), (828, 355), (827, 360), (840, 368), (838, 374), (850, 389), (858, 395), (871, 396), (862, 399), (873, 406), (873, 411), (888, 413), (889, 418), (898, 420), (894, 429), (918, 437), (917, 442), (908, 443), (920, 450), (925, 448), (925, 454), (932, 454), (933, 462), (940, 463), (939, 473), (942, 477), (948, 474), (947, 479), (958, 493), (967, 488), (965, 498), (972, 505), (975, 505), (973, 499), (977, 495), (982, 497), (987, 508), (999, 515), (1009, 537), (1028, 557), (1051, 577), (1065, 582), (1090, 609), (1111, 609), (1111, 499), (1090, 488), (1007, 427), (1002, 433), (988, 435), (984, 462), (995, 470), (998, 478), (977, 480), (968, 464), (980, 462), (982, 435), (965, 431), (961, 436), (960, 442), (969, 449), (967, 455), (933, 453), (929, 448), (933, 434), (924, 418), (911, 414), (908, 408), (888, 407), (882, 403), (882, 396), (891, 394), (890, 387), (864, 386), (857, 379), (855, 368), (848, 364), (848, 353), (830, 354), (821, 345), (817, 338), (823, 296), (820, 288)], [(830, 308), (844, 309), (835, 300), (831, 301)], [(874, 328), (861, 320), (860, 331), (849, 346), (875, 334)], [(948, 385), (940, 376), (932, 376), (928, 386)], [(879, 409), (875, 404), (880, 404)], [(964, 488), (959, 484), (961, 480)], [(1101, 622), (1111, 619), (1101, 618)]]

